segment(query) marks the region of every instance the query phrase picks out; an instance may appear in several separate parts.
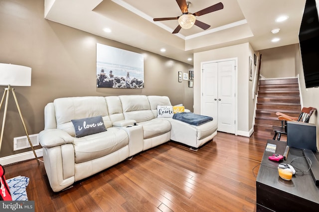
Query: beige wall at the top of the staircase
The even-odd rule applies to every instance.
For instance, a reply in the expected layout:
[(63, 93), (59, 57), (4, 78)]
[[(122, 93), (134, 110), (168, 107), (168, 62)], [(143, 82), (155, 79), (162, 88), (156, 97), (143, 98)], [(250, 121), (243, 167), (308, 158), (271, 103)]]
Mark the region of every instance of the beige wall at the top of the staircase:
[(260, 50), (260, 74), (267, 79), (295, 77), (295, 45)]

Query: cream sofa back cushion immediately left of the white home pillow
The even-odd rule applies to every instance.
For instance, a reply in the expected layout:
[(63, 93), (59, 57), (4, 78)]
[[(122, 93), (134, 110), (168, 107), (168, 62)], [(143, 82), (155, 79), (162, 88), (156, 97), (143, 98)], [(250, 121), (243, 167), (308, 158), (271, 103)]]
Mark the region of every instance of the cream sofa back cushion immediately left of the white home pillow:
[(137, 122), (143, 122), (155, 118), (147, 96), (120, 96), (120, 100), (125, 119), (133, 119)]

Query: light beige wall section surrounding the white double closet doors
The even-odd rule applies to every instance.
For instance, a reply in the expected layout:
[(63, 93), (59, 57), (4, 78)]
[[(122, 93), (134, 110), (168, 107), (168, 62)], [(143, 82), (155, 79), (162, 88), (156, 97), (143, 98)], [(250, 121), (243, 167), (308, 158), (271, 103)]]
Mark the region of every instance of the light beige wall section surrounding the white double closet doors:
[(249, 81), (249, 56), (254, 52), (249, 43), (214, 49), (194, 54), (194, 112), (200, 114), (201, 109), (201, 63), (206, 61), (237, 58), (237, 132), (249, 136), (253, 129), (254, 105), (252, 101), (253, 81)]

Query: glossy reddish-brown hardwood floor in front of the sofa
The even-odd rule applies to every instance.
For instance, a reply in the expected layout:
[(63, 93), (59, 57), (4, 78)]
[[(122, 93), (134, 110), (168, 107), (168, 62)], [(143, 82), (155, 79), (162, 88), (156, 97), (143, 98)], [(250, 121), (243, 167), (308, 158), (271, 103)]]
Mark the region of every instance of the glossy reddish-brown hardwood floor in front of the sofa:
[(30, 178), (36, 212), (253, 212), (267, 139), (218, 132), (198, 151), (167, 142), (59, 193), (35, 160), (5, 166), (5, 177)]

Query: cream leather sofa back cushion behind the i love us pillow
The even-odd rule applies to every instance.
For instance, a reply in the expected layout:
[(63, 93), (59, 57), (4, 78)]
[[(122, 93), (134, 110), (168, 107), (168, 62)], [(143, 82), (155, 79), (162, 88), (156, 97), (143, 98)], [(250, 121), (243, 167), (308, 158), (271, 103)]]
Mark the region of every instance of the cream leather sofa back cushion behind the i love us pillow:
[(80, 119), (101, 115), (106, 128), (112, 123), (108, 116), (104, 97), (68, 97), (53, 101), (55, 107), (56, 128), (75, 136), (72, 119)]

